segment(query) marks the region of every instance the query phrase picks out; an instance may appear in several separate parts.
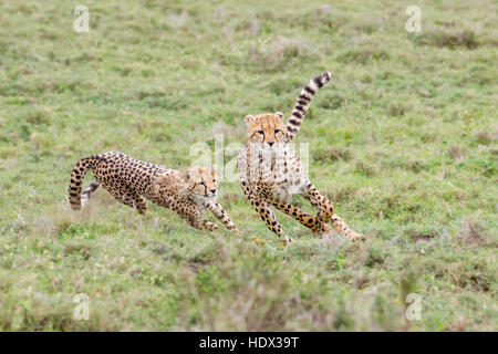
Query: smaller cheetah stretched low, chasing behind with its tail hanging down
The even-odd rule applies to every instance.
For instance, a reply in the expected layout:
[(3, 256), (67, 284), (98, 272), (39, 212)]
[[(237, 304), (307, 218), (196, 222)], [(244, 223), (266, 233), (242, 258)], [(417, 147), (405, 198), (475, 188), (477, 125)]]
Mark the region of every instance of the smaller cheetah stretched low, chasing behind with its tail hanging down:
[[(82, 196), (83, 178), (89, 169), (93, 170), (93, 181)], [(69, 184), (71, 208), (80, 210), (102, 186), (117, 201), (135, 208), (144, 215), (147, 207), (144, 197), (172, 209), (197, 229), (216, 230), (218, 227), (203, 220), (210, 210), (229, 230), (239, 232), (227, 212), (216, 201), (218, 179), (215, 169), (190, 167), (174, 170), (132, 158), (123, 153), (104, 153), (81, 159), (73, 168)]]

